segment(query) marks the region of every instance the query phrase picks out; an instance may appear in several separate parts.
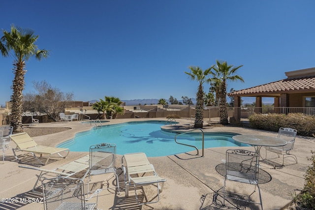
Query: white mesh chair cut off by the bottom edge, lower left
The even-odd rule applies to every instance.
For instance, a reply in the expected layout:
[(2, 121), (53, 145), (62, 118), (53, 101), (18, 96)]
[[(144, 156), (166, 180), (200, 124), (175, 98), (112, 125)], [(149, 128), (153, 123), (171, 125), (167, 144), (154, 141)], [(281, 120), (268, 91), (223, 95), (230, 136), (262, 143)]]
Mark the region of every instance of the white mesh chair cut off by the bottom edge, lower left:
[(86, 203), (83, 180), (44, 179), (42, 188), (44, 210), (93, 210), (97, 208), (98, 194), (95, 203)]

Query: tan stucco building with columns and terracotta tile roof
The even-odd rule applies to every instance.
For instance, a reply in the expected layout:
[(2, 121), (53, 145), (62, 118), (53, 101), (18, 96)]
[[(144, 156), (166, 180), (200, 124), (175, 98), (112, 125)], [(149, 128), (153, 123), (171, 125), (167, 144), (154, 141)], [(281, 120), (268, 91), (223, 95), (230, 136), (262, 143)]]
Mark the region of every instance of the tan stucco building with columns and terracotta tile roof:
[(287, 108), (303, 108), (299, 109), (303, 110), (302, 112), (307, 109), (314, 110), (315, 67), (288, 71), (285, 75), (287, 78), (283, 80), (228, 93), (228, 96), (234, 96), (234, 118), (240, 119), (240, 111), (237, 108), (241, 107), (241, 97), (256, 97), (256, 113), (261, 113), (262, 97), (273, 97), (275, 110), (286, 108), (283, 109), (286, 110), (285, 113), (288, 113)]

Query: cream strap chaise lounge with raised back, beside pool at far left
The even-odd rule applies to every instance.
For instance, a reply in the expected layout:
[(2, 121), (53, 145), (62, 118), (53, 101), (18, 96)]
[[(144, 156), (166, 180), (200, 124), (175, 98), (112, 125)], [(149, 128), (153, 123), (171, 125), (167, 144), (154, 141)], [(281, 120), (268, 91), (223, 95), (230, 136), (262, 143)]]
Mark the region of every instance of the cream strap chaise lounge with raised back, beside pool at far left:
[[(43, 165), (46, 165), (50, 159), (50, 157), (54, 154), (58, 154), (60, 157), (65, 158), (69, 154), (69, 149), (67, 148), (56, 148), (56, 147), (46, 147), (37, 145), (36, 142), (29, 136), (29, 134), (22, 132), (10, 135), (11, 140), (17, 145), (17, 147), (13, 150), (13, 154), (16, 159), (21, 160), (22, 158), (18, 158), (15, 151), (26, 151), (24, 157), (28, 156), (28, 154), (32, 154), (35, 159)], [(61, 152), (67, 152), (64, 156), (61, 155)], [(36, 154), (48, 155), (45, 163), (41, 162)], [(23, 158), (24, 158), (23, 157)]]

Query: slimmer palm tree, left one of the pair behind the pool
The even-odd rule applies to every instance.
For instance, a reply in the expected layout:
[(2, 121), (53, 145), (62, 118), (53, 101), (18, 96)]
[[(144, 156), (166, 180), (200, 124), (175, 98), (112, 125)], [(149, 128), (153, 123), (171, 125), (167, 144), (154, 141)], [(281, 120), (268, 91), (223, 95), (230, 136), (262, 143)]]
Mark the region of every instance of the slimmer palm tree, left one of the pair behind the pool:
[(205, 82), (206, 83), (210, 82), (210, 78), (207, 78), (207, 76), (209, 75), (210, 70), (213, 66), (211, 66), (205, 71), (203, 71), (200, 67), (189, 66), (190, 72), (185, 71), (185, 73), (189, 75), (191, 80), (197, 80), (199, 83), (198, 91), (196, 93), (197, 102), (196, 102), (196, 113), (195, 113), (195, 123), (194, 123), (195, 128), (203, 127), (203, 104), (204, 104), (203, 84)]

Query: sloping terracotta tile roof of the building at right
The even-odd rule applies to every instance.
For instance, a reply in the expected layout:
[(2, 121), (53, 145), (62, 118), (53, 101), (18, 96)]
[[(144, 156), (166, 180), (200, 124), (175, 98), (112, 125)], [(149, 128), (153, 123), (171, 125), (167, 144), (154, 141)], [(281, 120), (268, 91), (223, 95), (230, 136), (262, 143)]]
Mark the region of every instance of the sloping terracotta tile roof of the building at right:
[(284, 79), (228, 93), (228, 96), (275, 95), (280, 93), (315, 92), (315, 76)]

